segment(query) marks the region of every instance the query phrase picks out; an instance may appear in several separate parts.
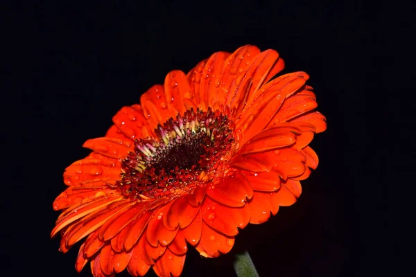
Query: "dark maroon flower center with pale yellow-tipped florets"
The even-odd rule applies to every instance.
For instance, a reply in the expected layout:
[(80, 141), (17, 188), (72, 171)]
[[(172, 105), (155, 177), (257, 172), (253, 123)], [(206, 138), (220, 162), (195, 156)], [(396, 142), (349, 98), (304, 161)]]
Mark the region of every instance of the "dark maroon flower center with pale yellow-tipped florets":
[(157, 139), (135, 141), (116, 183), (125, 197), (155, 199), (192, 193), (224, 177), (234, 147), (234, 123), (219, 111), (190, 109), (155, 129)]

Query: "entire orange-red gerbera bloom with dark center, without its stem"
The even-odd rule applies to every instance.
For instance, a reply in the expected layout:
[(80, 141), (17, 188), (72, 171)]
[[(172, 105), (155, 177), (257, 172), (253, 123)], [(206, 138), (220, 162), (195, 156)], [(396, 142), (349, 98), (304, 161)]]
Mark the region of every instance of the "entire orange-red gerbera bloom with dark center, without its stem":
[(239, 229), (295, 203), (326, 123), (306, 73), (272, 80), (283, 68), (274, 50), (214, 53), (168, 73), (85, 142), (93, 152), (65, 170), (69, 187), (53, 203), (60, 250), (83, 241), (76, 270), (179, 276), (188, 244), (217, 257)]

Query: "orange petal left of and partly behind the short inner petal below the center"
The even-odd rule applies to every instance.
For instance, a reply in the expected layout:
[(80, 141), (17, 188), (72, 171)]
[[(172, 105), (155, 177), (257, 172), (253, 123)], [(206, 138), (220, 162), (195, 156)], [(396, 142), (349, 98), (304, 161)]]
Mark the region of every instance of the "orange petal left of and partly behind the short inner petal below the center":
[(165, 228), (163, 224), (164, 216), (166, 216), (166, 206), (159, 208), (159, 210), (155, 213), (153, 218), (151, 218), (148, 223), (146, 238), (148, 239), (150, 245), (152, 245), (153, 247), (157, 247), (158, 244), (162, 244), (163, 246), (168, 245), (172, 242), (173, 238), (175, 238), (175, 235), (177, 233), (177, 229), (171, 231)]

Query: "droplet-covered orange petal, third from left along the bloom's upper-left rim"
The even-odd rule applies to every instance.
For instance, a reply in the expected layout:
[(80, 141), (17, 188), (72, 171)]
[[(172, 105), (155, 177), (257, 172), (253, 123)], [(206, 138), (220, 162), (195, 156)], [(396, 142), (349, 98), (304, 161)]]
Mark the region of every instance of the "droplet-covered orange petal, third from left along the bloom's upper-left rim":
[(157, 128), (157, 124), (163, 124), (168, 118), (175, 117), (176, 112), (168, 109), (164, 87), (156, 84), (143, 93), (140, 98), (144, 115), (152, 129)]

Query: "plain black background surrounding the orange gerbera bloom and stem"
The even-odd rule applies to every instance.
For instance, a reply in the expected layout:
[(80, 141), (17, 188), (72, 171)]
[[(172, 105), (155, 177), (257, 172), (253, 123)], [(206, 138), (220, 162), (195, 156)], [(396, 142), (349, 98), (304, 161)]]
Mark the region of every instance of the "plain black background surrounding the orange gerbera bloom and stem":
[(311, 75), (328, 123), (311, 144), (320, 166), (302, 182), (294, 206), (241, 231), (229, 254), (202, 259), (191, 249), (183, 276), (234, 276), (233, 255), (244, 249), (260, 276), (397, 274), (392, 256), (401, 245), (385, 235), (395, 221), (385, 176), (401, 168), (387, 165), (399, 145), (383, 141), (406, 116), (397, 112), (398, 91), (406, 88), (392, 77), (397, 55), (410, 47), (400, 42), (410, 34), (406, 8), (395, 10), (387, 1), (297, 0), (22, 8), (23, 32), (12, 32), (19, 39), (15, 65), (25, 76), (18, 84), (22, 104), (10, 105), (23, 118), (14, 138), (19, 154), (12, 156), (11, 193), (3, 196), (13, 227), (2, 227), (3, 239), (16, 239), (3, 244), (10, 245), (1, 254), (3, 274), (91, 276), (89, 265), (81, 274), (74, 269), (78, 247), (63, 255), (59, 240), (49, 238), (64, 168), (85, 157), (83, 142), (103, 136), (116, 111), (139, 102), (168, 71), (187, 72), (211, 53), (244, 44), (277, 50), (284, 73)]

